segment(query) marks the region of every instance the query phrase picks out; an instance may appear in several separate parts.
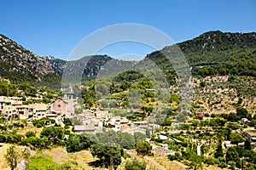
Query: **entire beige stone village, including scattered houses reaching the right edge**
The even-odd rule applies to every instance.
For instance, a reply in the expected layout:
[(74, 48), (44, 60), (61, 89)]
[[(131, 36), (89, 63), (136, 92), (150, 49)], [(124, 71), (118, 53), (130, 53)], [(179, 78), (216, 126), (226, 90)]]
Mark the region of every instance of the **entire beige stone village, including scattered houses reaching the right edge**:
[[(37, 95), (37, 98), (40, 99), (40, 95)], [(64, 119), (68, 118), (78, 120), (78, 122), (73, 122), (73, 133), (76, 134), (104, 133), (111, 129), (115, 132), (120, 131), (122, 133), (130, 133), (131, 135), (143, 133), (148, 137), (146, 141), (151, 144), (154, 156), (177, 156), (176, 153), (181, 153), (180, 150), (183, 146), (177, 149), (177, 147), (172, 148), (172, 144), (184, 144), (186, 141), (189, 141), (191, 144), (197, 144), (196, 153), (198, 156), (201, 156), (203, 148), (218, 144), (216, 139), (208, 140), (207, 137), (200, 138), (198, 136), (204, 136), (207, 133), (213, 136), (218, 132), (212, 127), (207, 127), (207, 125), (201, 126), (198, 123), (195, 125), (193, 117), (188, 116), (187, 121), (180, 128), (173, 130), (160, 127), (159, 124), (149, 123), (148, 121), (131, 122), (125, 116), (114, 116), (110, 111), (104, 111), (100, 108), (82, 110), (81, 113), (77, 114), (75, 113), (75, 108), (79, 107), (78, 98), (75, 97), (72, 86), (67, 88), (67, 92), (63, 97), (57, 97), (49, 104), (35, 103), (23, 105), (20, 97), (0, 97), (0, 112), (6, 120), (26, 120), (28, 124), (32, 124), (34, 120), (47, 117), (55, 120), (55, 123), (48, 124), (47, 127), (55, 126), (55, 124), (65, 127)], [(212, 120), (215, 120), (215, 118), (205, 116), (202, 122), (212, 122)], [(236, 122), (230, 122), (230, 124), (232, 123), (237, 124)], [(223, 139), (221, 146), (224, 150), (236, 146), (244, 147), (245, 140), (250, 141), (252, 145), (256, 144), (256, 133), (253, 132), (253, 127), (248, 126), (250, 121), (243, 117), (241, 118), (241, 124), (247, 125), (247, 128), (234, 128), (230, 133), (240, 133), (243, 139), (236, 144), (230, 141), (230, 138)], [(201, 130), (200, 133), (199, 130)], [(65, 135), (65, 138), (68, 138), (68, 136)], [(212, 150), (212, 147), (208, 150)], [(255, 148), (253, 150), (256, 151)], [(135, 150), (126, 151), (132, 155)]]

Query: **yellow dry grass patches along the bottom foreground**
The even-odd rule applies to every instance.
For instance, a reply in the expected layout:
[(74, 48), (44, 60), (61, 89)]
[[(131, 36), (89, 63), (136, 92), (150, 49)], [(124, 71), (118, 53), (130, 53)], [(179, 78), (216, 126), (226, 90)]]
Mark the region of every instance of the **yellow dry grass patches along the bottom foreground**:
[[(6, 154), (6, 150), (9, 148), (10, 144), (3, 144), (0, 147), (0, 169), (1, 170), (9, 170), (9, 166), (5, 161), (4, 155)], [(18, 146), (20, 150), (24, 150), (24, 146)], [(32, 151), (32, 156), (51, 156), (54, 161), (59, 164), (69, 163), (73, 167), (84, 170), (107, 170), (102, 167), (90, 167), (89, 163), (91, 161), (96, 161), (96, 158), (91, 156), (89, 150), (82, 150), (75, 153), (67, 153), (65, 148), (53, 148), (52, 150), (44, 150), (43, 152)], [(133, 156), (132, 156), (133, 157)], [(131, 158), (132, 158), (131, 157)], [(169, 161), (166, 157), (151, 157), (151, 156), (136, 156), (138, 160), (145, 161), (147, 163), (147, 170), (185, 170), (187, 169), (185, 165), (178, 161)], [(130, 158), (130, 159), (131, 159)], [(125, 162), (129, 159), (123, 159), (121, 165), (118, 170), (122, 170), (125, 167)], [(220, 167), (204, 165), (205, 170), (221, 170)]]

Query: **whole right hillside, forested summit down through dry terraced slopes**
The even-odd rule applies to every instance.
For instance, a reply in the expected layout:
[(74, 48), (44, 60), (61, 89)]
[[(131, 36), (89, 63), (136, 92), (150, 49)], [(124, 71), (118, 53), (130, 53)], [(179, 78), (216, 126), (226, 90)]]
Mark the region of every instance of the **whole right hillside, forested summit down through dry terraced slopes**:
[[(224, 33), (209, 31), (192, 40), (178, 43), (148, 54), (145, 59), (113, 79), (110, 87), (114, 105), (125, 108), (170, 107), (169, 94), (165, 94), (164, 80), (157, 69), (148, 66), (153, 61), (171, 87), (171, 109), (177, 112), (179, 82), (177, 74), (165, 54), (175, 54), (181, 48), (188, 60), (193, 81), (190, 83), (193, 99), (190, 113), (195, 115), (236, 112), (242, 106), (255, 114), (256, 104), (256, 33)], [(168, 51), (171, 51), (168, 52)], [(144, 69), (144, 72), (143, 72)], [(141, 71), (140, 74), (137, 71)], [(151, 79), (150, 79), (151, 78)], [(102, 83), (102, 88), (108, 87)], [(162, 87), (161, 87), (162, 86)], [(135, 89), (134, 89), (135, 88)], [(138, 91), (139, 89), (139, 91)], [(135, 93), (142, 94), (137, 99)], [(155, 93), (154, 91), (155, 90)], [(97, 92), (99, 93), (99, 92)], [(103, 93), (99, 93), (103, 96)], [(106, 98), (108, 99), (108, 98)], [(106, 101), (101, 100), (101, 105)]]

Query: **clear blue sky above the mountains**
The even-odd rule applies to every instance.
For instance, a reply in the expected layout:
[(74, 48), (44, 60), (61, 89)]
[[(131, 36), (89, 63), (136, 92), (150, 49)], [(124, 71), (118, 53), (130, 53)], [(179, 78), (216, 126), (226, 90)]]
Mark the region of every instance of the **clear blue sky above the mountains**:
[[(67, 59), (91, 32), (119, 23), (139, 23), (182, 42), (205, 31), (256, 31), (254, 0), (8, 0), (1, 2), (0, 33), (41, 56)], [(102, 53), (145, 55), (126, 43)]]

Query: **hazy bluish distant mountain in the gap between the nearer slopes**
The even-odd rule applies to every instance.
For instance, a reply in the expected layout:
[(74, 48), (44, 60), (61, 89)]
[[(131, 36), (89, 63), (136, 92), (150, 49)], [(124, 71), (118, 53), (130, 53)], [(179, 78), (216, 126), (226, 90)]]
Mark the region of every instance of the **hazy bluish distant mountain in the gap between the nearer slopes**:
[(108, 55), (85, 56), (78, 60), (64, 61), (61, 59), (51, 59), (49, 62), (55, 72), (62, 77), (65, 82), (90, 82), (101, 74), (101, 77), (122, 71), (125, 67), (135, 65), (136, 61), (126, 61), (113, 59)]

